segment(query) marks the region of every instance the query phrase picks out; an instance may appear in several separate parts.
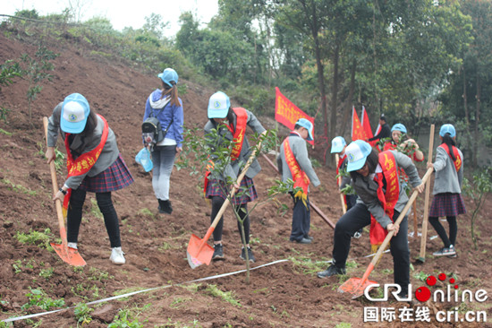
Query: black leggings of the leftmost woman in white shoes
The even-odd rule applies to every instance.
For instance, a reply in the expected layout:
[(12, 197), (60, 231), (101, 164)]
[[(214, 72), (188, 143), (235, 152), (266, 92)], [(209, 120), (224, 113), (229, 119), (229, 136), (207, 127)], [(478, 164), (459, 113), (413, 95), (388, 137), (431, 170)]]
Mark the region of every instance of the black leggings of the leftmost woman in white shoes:
[[(77, 243), (79, 229), (81, 228), (82, 206), (84, 205), (86, 194), (84, 190), (72, 189), (72, 196), (70, 197), (70, 204), (67, 211), (67, 241), (69, 243)], [(96, 200), (98, 201), (99, 210), (104, 216), (111, 247), (121, 247), (122, 242), (120, 240), (118, 215), (111, 200), (111, 193), (96, 193)]]

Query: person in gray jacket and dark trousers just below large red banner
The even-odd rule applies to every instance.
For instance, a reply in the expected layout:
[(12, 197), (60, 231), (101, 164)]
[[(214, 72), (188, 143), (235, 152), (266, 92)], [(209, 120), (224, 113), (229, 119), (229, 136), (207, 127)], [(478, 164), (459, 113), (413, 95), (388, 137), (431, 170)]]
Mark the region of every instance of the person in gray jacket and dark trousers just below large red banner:
[(306, 118), (300, 118), (294, 125), (293, 131), (287, 136), (280, 146), (280, 153), (276, 158), (278, 171), (282, 175), (282, 181), (293, 179), (294, 187), (301, 187), (301, 191), (293, 197), (293, 224), (291, 241), (300, 244), (310, 244), (312, 237), (310, 232), (310, 198), (309, 186), (319, 186), (318, 176), (312, 168), (312, 164), (306, 147), (306, 140), (312, 138), (313, 125)]

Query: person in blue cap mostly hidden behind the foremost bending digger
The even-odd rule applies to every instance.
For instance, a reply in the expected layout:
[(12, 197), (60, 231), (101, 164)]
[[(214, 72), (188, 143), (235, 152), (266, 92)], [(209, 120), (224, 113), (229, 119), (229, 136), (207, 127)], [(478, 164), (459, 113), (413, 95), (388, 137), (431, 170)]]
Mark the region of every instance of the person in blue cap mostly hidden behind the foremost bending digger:
[[(342, 189), (344, 189), (347, 186), (351, 185), (351, 177), (344, 175), (343, 173), (347, 171), (347, 155), (345, 153), (345, 149), (347, 148), (347, 142), (345, 142), (345, 139), (343, 136), (336, 136), (333, 138), (331, 141), (331, 153), (332, 154), (338, 154), (340, 156), (337, 167), (336, 167), (336, 177), (341, 175), (341, 183), (340, 186), (338, 187), (338, 192), (342, 194)], [(337, 178), (338, 180), (338, 178)], [(344, 203), (347, 207), (347, 211), (352, 209), (353, 206), (355, 206), (355, 203), (357, 202), (357, 194), (344, 194)], [(353, 233), (354, 238), (360, 238), (362, 236), (362, 229), (359, 229), (358, 231), (355, 231)]]

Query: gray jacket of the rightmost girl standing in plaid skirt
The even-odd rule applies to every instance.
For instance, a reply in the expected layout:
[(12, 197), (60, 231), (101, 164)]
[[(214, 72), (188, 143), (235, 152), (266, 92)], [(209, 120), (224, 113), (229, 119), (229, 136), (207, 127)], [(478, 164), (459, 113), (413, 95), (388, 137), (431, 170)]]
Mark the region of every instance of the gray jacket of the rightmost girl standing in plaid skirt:
[[(458, 149), (458, 153), (463, 158), (462, 151)], [(436, 171), (436, 179), (434, 180), (432, 194), (462, 193), (463, 166), (456, 172), (453, 159), (449, 157), (442, 147), (437, 147), (434, 169)]]

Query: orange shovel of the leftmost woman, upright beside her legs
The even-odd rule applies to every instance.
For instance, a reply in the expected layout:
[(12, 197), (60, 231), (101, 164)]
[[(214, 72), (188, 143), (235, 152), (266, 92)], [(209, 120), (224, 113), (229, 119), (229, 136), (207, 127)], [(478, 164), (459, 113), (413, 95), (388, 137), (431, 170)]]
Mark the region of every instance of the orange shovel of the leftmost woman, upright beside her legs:
[[(45, 125), (45, 137), (47, 139), (47, 117), (43, 117), (43, 124)], [(51, 182), (53, 185), (53, 194), (58, 191), (58, 182), (56, 180), (55, 161), (52, 160), (49, 163), (49, 170), (51, 172)], [(86, 262), (79, 254), (79, 251), (75, 248), (69, 247), (66, 240), (66, 229), (64, 221), (64, 212), (62, 211), (62, 203), (59, 199), (55, 201), (56, 214), (58, 216), (58, 225), (60, 226), (60, 237), (62, 237), (62, 245), (50, 243), (55, 249), (55, 252), (64, 262), (74, 266), (84, 266)]]

